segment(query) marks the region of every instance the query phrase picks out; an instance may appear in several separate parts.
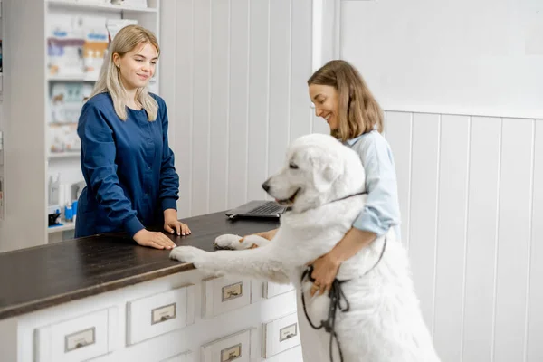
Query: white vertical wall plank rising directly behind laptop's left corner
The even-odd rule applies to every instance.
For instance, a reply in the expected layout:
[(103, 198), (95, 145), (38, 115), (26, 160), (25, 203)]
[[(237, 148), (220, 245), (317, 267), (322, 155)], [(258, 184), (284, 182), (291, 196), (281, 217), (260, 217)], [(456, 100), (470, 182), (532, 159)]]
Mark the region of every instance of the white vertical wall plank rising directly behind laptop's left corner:
[[(228, 130), (228, 189), (226, 207), (242, 205), (247, 195), (249, 0), (232, 1), (230, 50), (230, 127)], [(254, 2), (252, 2), (254, 3)]]

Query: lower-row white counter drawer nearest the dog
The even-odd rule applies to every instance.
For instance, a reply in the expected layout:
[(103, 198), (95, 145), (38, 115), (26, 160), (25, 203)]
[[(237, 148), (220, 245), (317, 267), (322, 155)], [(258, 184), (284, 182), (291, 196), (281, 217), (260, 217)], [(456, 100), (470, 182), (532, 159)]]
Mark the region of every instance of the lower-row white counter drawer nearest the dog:
[(262, 358), (300, 345), (297, 313), (262, 323)]

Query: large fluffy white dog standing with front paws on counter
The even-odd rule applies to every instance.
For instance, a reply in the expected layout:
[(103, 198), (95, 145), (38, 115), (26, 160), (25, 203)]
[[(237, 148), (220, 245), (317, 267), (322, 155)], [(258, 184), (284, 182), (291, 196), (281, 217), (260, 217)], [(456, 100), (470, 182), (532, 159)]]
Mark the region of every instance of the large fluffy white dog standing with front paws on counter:
[[(414, 293), (407, 254), (392, 229), (341, 264), (330, 295), (310, 296), (306, 264), (329, 252), (351, 228), (365, 204), (364, 180), (360, 158), (337, 139), (320, 134), (298, 138), (285, 166), (262, 185), (277, 202), (291, 205), (273, 240), (251, 235), (240, 243), (240, 236), (227, 234), (215, 243), (250, 249), (205, 252), (179, 246), (170, 257), (215, 275), (293, 283), (307, 362), (439, 361)], [(310, 328), (305, 312), (315, 327), (328, 322), (328, 331)]]

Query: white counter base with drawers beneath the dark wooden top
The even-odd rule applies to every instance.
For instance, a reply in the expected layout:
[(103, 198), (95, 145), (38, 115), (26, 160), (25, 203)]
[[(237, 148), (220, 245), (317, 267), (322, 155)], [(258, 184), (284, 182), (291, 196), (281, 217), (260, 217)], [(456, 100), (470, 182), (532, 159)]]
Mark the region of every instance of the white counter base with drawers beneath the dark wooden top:
[(262, 300), (253, 280), (203, 277), (178, 272), (0, 319), (0, 361), (302, 361), (292, 295)]

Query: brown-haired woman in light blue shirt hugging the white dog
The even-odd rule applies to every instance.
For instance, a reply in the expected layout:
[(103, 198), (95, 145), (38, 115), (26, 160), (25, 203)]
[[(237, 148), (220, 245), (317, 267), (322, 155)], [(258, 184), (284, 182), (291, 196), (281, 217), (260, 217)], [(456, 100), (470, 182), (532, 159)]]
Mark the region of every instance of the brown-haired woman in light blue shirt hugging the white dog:
[[(323, 65), (308, 80), (315, 114), (326, 119), (330, 133), (360, 155), (366, 171), (367, 203), (353, 227), (329, 253), (313, 264), (312, 294), (328, 291), (341, 262), (394, 228), (400, 238), (400, 209), (395, 164), (383, 130), (383, 110), (358, 71), (344, 61)], [(271, 239), (275, 230), (260, 233)]]

